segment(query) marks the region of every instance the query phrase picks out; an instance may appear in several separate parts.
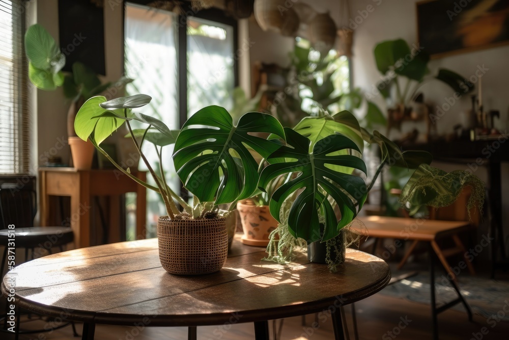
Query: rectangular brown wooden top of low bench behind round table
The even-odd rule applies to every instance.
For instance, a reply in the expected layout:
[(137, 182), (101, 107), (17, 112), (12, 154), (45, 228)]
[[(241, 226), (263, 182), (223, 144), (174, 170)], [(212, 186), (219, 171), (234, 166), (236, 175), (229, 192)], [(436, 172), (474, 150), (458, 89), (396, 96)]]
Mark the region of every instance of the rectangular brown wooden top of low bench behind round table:
[[(433, 241), (470, 228), (468, 221), (440, 221), (404, 217), (362, 216), (350, 226), (353, 231), (375, 238)], [(367, 230), (366, 230), (367, 229)]]

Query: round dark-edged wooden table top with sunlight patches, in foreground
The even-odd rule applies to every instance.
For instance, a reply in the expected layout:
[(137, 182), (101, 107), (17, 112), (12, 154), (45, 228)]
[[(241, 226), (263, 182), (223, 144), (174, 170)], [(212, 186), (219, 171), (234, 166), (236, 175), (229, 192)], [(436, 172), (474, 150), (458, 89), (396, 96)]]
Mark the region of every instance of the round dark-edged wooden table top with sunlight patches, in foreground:
[(81, 248), (10, 271), (19, 306), (68, 320), (151, 326), (252, 322), (319, 312), (380, 291), (390, 279), (380, 258), (353, 249), (332, 274), (304, 256), (289, 265), (261, 261), (265, 249), (237, 240), (216, 273), (177, 276), (159, 263), (157, 239)]

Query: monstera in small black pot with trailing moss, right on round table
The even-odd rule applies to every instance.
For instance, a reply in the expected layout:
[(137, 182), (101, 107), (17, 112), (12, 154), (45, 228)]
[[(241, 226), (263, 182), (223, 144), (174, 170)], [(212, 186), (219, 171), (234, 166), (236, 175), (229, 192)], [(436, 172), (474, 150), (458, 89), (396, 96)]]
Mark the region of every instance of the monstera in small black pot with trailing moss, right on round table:
[[(271, 234), (266, 259), (285, 263), (296, 249), (307, 247), (308, 258), (327, 263), (331, 271), (345, 259), (344, 228), (355, 219), (385, 166), (414, 171), (400, 198), (402, 204), (441, 207), (453, 203), (463, 187), (472, 186), (469, 208), (482, 206), (484, 184), (468, 171), (445, 173), (431, 167), (430, 153), (401, 151), (385, 136), (359, 126), (348, 111), (333, 116), (304, 118), (294, 129), (285, 128), (286, 145), (271, 153), (261, 173), (264, 190), (272, 178), (288, 177), (271, 196), (269, 210), (279, 222)], [(369, 185), (363, 179), (364, 142), (381, 150), (381, 163)], [(317, 258), (319, 252), (322, 258)]]

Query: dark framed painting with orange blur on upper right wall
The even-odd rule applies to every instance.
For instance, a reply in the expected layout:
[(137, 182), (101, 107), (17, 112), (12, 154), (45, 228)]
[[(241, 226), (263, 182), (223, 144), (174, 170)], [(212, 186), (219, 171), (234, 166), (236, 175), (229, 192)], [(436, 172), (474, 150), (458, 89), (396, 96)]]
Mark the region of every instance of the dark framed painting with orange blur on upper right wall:
[(416, 10), (419, 45), (431, 58), (509, 43), (507, 0), (429, 0)]

